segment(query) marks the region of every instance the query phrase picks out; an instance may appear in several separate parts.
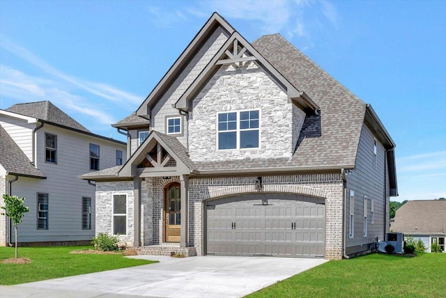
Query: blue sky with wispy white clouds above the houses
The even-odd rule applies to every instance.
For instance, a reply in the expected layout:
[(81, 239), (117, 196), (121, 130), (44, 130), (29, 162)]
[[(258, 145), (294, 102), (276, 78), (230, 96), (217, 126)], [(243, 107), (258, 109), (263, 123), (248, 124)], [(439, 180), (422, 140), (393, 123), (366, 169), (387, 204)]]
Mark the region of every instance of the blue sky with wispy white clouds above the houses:
[(0, 0), (0, 109), (51, 100), (92, 132), (137, 109), (217, 11), (282, 36), (374, 107), (398, 198), (446, 197), (446, 1)]

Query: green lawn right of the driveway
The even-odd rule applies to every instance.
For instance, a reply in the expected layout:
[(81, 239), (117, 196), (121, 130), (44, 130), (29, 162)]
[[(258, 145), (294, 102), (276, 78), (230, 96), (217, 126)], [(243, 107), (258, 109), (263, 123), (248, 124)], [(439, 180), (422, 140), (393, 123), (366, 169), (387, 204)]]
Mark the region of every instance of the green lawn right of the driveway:
[(332, 260), (247, 297), (444, 297), (446, 253)]

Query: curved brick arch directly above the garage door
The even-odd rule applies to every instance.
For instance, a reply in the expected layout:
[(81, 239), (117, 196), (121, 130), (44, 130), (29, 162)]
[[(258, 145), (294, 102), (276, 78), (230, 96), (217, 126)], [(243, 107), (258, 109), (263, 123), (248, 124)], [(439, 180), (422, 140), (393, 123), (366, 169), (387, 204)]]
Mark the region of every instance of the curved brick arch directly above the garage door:
[(201, 198), (203, 200), (209, 200), (213, 198), (220, 198), (222, 196), (233, 196), (236, 194), (261, 193), (304, 194), (307, 196), (316, 196), (318, 198), (327, 198), (328, 196), (328, 191), (313, 187), (305, 187), (303, 185), (263, 185), (263, 189), (261, 191), (254, 189), (254, 185), (242, 185), (211, 189), (208, 192), (201, 194)]

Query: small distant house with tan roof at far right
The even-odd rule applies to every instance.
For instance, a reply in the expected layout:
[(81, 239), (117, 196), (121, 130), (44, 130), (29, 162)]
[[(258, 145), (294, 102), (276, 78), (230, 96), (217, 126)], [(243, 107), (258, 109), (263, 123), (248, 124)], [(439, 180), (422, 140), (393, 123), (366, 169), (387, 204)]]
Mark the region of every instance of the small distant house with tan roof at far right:
[(395, 212), (390, 228), (403, 233), (405, 239), (413, 236), (422, 240), (428, 252), (433, 243), (440, 244), (445, 252), (446, 200), (407, 201)]

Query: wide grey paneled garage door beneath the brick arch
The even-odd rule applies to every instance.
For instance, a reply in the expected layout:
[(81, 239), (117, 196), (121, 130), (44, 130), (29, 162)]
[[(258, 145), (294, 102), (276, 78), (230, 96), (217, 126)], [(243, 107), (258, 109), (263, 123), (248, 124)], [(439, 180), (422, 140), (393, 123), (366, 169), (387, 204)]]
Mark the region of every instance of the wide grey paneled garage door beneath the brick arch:
[(206, 202), (206, 253), (323, 257), (325, 201), (298, 194), (244, 194)]

